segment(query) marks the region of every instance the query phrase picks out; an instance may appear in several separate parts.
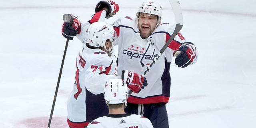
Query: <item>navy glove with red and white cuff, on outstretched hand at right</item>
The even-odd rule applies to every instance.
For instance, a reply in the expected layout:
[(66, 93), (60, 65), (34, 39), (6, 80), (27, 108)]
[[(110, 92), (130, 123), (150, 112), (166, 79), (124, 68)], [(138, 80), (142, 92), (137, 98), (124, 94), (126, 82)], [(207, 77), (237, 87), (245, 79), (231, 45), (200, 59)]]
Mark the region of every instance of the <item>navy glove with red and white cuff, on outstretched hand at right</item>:
[(185, 42), (178, 49), (176, 49), (173, 54), (174, 56), (177, 56), (175, 58), (175, 64), (178, 67), (185, 68), (191, 64), (196, 57), (196, 47), (191, 42)]

